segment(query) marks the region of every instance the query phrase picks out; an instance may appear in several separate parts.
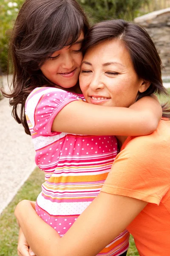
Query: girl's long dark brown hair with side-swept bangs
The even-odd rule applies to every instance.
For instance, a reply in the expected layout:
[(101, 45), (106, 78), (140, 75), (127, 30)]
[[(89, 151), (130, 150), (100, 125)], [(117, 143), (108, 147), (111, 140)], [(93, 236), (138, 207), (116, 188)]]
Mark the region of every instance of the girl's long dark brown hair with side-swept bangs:
[[(80, 33), (88, 32), (88, 19), (75, 0), (26, 0), (11, 33), (10, 52), (13, 64), (11, 98), (12, 115), (30, 134), (25, 115), (25, 102), (36, 87), (51, 82), (40, 65), (51, 53), (74, 44)], [(54, 85), (53, 85), (54, 86)]]

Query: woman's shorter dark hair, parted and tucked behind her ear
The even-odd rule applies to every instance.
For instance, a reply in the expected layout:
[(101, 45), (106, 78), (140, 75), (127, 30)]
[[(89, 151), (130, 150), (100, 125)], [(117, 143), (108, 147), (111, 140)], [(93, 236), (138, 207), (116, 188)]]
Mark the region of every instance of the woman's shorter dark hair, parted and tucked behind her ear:
[[(158, 93), (168, 96), (161, 79), (161, 59), (156, 47), (142, 27), (125, 20), (106, 20), (96, 23), (86, 35), (83, 51), (103, 41), (118, 39), (128, 50), (134, 70), (139, 78), (150, 81), (150, 87), (138, 94), (138, 99)], [(163, 116), (170, 118), (170, 106), (162, 105)]]

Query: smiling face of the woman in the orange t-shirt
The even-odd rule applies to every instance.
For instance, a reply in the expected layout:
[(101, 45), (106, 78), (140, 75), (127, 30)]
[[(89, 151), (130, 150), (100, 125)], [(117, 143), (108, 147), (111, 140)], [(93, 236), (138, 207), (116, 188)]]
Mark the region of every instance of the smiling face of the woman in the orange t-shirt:
[(119, 40), (90, 47), (82, 61), (79, 84), (88, 103), (129, 107), (149, 86), (139, 79), (129, 52)]

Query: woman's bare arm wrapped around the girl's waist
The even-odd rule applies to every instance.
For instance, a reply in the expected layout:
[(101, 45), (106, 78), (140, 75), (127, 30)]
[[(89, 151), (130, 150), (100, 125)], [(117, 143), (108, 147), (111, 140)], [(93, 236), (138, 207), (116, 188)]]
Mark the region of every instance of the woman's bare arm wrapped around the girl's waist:
[(62, 238), (21, 201), (15, 210), (24, 235), (37, 256), (96, 256), (146, 206), (138, 199), (100, 192)]

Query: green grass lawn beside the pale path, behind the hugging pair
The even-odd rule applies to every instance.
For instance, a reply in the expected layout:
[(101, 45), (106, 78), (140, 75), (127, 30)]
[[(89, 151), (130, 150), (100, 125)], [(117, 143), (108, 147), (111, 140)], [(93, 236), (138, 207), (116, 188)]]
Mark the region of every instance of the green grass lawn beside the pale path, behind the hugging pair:
[[(170, 89), (168, 90), (170, 93)], [(0, 215), (0, 256), (17, 256), (18, 227), (14, 217), (17, 203), (23, 199), (35, 201), (41, 191), (44, 173), (35, 169), (12, 202)], [(127, 256), (139, 256), (133, 237), (130, 237), (130, 248)]]

